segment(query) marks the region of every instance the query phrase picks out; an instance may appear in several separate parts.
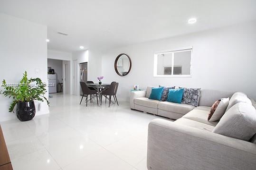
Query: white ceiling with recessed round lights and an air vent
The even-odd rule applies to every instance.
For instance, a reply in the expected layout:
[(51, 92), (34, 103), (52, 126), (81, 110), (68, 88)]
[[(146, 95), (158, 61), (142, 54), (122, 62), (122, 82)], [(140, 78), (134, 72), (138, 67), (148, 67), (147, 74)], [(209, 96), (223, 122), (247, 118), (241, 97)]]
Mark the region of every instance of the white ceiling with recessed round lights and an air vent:
[(256, 0), (0, 0), (0, 12), (47, 25), (49, 49), (77, 51), (256, 20)]

